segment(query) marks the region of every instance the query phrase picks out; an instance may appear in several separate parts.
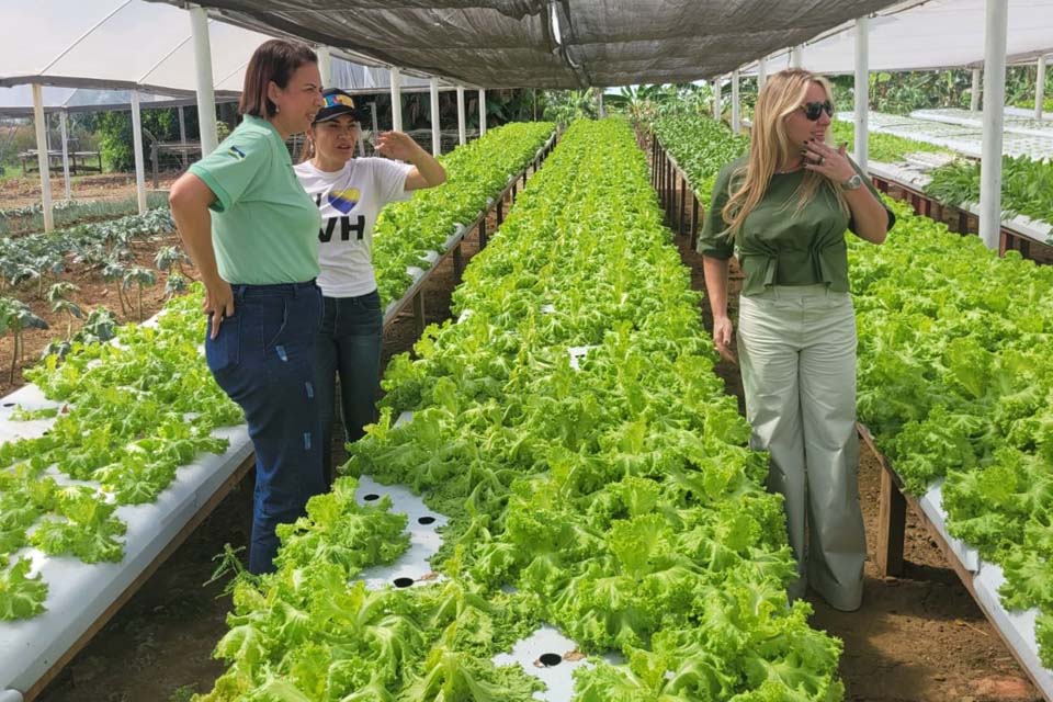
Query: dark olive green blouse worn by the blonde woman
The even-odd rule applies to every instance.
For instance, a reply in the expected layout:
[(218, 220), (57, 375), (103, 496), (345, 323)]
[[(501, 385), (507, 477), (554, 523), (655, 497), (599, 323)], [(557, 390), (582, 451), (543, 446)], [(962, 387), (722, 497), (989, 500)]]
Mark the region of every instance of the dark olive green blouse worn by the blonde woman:
[[(743, 295), (760, 294), (770, 285), (819, 283), (826, 283), (833, 292), (847, 293), (845, 230), (854, 231), (854, 223), (841, 212), (837, 196), (827, 186), (820, 186), (815, 197), (797, 211), (797, 188), (804, 180), (804, 170), (772, 176), (765, 196), (746, 217), (740, 231), (734, 240), (728, 237), (721, 210), (727, 203), (733, 183), (745, 174), (745, 166), (746, 159), (740, 158), (725, 166), (716, 177), (705, 224), (699, 235), (699, 253), (716, 259), (737, 253), (746, 276)], [(870, 179), (858, 166), (852, 166), (878, 196)], [(739, 168), (743, 176), (736, 176)], [(895, 215), (888, 211), (890, 229), (893, 223)]]

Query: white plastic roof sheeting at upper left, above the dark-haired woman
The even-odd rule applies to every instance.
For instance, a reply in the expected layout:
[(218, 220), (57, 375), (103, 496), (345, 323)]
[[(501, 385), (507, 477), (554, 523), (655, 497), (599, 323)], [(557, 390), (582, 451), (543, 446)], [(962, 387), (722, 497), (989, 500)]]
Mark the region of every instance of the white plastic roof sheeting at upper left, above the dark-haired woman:
[[(236, 97), (252, 52), (271, 36), (216, 20), (208, 22), (208, 33), (216, 93)], [(0, 87), (37, 82), (110, 91), (137, 89), (192, 101), (196, 89), (193, 48), (188, 13), (166, 4), (143, 0), (0, 4)], [(335, 84), (356, 92), (387, 90), (386, 67), (369, 59), (350, 59), (359, 57), (339, 52), (333, 56)], [(428, 80), (405, 76), (403, 89), (427, 90)], [(0, 110), (25, 107), (22, 114), (31, 113), (33, 103), (27, 94), (0, 91)], [(45, 109), (129, 102), (126, 93), (49, 89)]]

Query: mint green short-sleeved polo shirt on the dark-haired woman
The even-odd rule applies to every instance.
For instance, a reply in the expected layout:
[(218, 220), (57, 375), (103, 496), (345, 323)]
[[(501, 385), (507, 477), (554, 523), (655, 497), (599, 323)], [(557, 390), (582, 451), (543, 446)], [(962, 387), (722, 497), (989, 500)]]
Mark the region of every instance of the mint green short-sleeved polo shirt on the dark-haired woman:
[(223, 280), (268, 285), (318, 276), (318, 206), (270, 122), (246, 115), (190, 172), (216, 196), (212, 246)]

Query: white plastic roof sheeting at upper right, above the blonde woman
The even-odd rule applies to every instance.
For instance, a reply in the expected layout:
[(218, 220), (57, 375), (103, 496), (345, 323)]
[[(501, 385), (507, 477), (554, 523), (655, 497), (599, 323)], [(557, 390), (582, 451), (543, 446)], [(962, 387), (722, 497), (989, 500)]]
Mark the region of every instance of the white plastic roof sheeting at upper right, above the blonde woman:
[[(1006, 0), (1010, 63), (1053, 53), (1053, 0)], [(975, 67), (984, 60), (985, 0), (901, 2), (870, 19), (871, 70)], [(804, 45), (804, 67), (820, 73), (853, 70), (853, 23), (819, 34)], [(767, 72), (790, 66), (788, 50), (769, 56)], [(756, 75), (757, 64), (744, 70)]]

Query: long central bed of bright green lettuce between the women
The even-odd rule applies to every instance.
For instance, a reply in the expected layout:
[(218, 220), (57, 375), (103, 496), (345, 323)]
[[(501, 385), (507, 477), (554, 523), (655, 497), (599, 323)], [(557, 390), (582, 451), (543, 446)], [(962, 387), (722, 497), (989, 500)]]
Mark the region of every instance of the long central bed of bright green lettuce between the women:
[[(541, 683), (492, 658), (542, 622), (624, 658), (578, 667), (576, 700), (840, 700), (840, 643), (788, 605), (781, 498), (624, 122), (567, 131), (454, 301), (278, 573), (237, 582), (200, 700), (525, 702)], [(389, 502), (352, 499), (364, 474), (450, 517), (439, 579), (354, 580), (406, 544)]]

